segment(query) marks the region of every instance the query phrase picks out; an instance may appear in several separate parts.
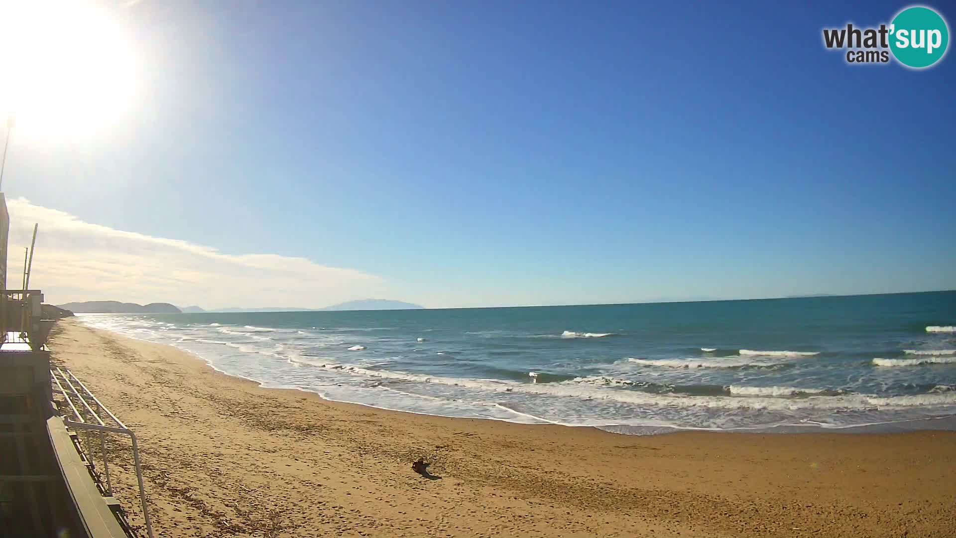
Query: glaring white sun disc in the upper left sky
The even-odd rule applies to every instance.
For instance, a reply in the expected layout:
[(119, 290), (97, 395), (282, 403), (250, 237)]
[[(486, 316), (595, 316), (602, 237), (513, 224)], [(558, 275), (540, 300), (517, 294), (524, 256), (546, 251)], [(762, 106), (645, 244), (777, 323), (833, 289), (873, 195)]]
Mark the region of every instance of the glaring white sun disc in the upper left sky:
[(138, 51), (115, 12), (83, 0), (0, 0), (0, 21), (0, 115), (16, 119), (18, 136), (87, 138), (131, 112)]

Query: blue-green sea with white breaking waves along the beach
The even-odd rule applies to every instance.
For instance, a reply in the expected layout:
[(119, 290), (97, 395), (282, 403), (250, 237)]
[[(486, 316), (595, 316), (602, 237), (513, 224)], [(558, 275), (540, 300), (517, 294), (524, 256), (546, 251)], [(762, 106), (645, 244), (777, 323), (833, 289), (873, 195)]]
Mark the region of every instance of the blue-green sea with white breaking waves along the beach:
[(264, 387), (426, 415), (635, 435), (956, 416), (956, 291), (79, 319)]

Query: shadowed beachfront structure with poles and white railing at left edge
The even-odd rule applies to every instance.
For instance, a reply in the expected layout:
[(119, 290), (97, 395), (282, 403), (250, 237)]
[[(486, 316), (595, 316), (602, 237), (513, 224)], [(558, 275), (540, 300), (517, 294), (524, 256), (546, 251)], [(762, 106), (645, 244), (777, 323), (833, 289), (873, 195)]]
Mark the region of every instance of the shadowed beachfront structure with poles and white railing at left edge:
[(33, 250), (22, 288), (7, 286), (9, 231), (0, 192), (0, 534), (136, 536), (112, 494), (107, 443), (119, 436), (132, 450), (152, 538), (136, 437), (76, 375), (51, 365), (54, 321), (44, 319), (43, 293), (29, 287)]

